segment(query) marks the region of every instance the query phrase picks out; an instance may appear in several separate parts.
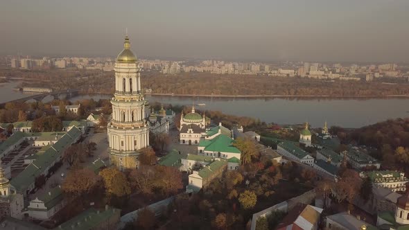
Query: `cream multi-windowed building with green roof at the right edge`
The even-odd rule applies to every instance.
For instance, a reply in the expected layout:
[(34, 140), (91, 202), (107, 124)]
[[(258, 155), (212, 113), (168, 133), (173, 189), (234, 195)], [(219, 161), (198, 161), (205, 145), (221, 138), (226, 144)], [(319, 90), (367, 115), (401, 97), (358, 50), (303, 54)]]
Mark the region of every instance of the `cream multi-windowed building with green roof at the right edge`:
[(406, 183), (409, 182), (404, 172), (392, 170), (360, 172), (359, 175), (362, 178), (369, 177), (376, 186), (388, 188), (394, 192), (406, 191)]

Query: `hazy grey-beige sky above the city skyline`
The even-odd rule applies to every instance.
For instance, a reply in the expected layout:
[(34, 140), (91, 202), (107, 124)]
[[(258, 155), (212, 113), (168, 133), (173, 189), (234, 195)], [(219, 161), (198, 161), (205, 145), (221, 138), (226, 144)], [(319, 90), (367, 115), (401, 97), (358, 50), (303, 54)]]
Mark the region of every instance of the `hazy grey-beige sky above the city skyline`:
[(1, 0), (0, 54), (409, 62), (409, 0)]

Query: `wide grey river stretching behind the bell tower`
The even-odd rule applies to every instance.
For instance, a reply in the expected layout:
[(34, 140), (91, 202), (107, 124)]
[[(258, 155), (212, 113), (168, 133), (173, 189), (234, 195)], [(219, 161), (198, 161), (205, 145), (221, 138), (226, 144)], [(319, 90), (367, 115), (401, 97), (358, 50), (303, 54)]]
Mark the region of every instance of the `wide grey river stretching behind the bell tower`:
[[(10, 82), (0, 85), (0, 103), (24, 98), (28, 94), (12, 91)], [(14, 87), (15, 87), (14, 86)], [(10, 89), (9, 89), (10, 88)], [(71, 101), (85, 98), (112, 98), (110, 95), (80, 95)], [(295, 124), (308, 121), (312, 127), (328, 125), (362, 127), (389, 118), (409, 117), (409, 98), (205, 98), (183, 96), (150, 96), (151, 103), (164, 105), (205, 104), (198, 109), (219, 110), (225, 114), (250, 116), (268, 123)]]

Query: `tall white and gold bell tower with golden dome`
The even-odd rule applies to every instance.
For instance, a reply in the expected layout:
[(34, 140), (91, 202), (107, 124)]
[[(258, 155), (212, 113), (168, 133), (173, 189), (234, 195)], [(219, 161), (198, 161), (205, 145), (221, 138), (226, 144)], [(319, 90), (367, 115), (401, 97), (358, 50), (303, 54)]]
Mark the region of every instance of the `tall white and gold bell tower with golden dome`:
[(119, 170), (137, 168), (139, 150), (149, 145), (145, 120), (145, 98), (141, 91), (139, 60), (125, 37), (123, 51), (115, 62), (115, 94), (111, 100), (112, 118), (107, 125), (110, 161)]

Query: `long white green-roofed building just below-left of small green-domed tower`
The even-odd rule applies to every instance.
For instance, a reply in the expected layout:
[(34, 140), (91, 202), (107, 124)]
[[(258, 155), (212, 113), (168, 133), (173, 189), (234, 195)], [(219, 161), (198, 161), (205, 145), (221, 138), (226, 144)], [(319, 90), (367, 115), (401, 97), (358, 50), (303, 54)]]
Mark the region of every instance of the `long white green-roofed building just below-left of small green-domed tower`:
[(308, 166), (314, 165), (314, 158), (308, 152), (302, 150), (298, 146), (288, 141), (283, 141), (277, 144), (277, 152), (283, 157), (287, 157), (293, 161), (305, 163)]

